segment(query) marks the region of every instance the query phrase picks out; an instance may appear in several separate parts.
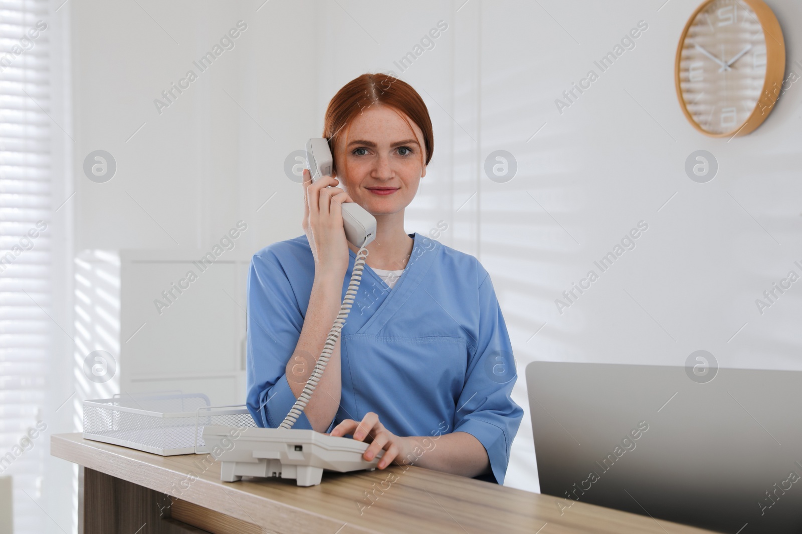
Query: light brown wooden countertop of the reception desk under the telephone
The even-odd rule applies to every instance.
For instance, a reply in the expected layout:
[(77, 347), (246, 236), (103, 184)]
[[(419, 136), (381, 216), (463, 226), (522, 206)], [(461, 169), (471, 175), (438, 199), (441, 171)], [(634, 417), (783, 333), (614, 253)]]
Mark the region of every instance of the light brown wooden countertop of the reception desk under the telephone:
[[(260, 525), (263, 532), (710, 532), (582, 502), (561, 515), (556, 497), (414, 466), (324, 472), (322, 484), (299, 488), (283, 479), (221, 482), (220, 463), (211, 456), (158, 456), (84, 440), (80, 433), (51, 436), (51, 454)], [(366, 492), (375, 492), (373, 500)]]

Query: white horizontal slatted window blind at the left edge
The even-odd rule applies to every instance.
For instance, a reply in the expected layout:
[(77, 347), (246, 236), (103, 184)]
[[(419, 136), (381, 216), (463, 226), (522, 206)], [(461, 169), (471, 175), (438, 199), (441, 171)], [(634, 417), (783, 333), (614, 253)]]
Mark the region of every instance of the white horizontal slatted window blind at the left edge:
[[(0, 2), (0, 476), (14, 532), (53, 525), (39, 508), (51, 331), (51, 86), (47, 2)], [(2, 504), (0, 504), (2, 508)]]

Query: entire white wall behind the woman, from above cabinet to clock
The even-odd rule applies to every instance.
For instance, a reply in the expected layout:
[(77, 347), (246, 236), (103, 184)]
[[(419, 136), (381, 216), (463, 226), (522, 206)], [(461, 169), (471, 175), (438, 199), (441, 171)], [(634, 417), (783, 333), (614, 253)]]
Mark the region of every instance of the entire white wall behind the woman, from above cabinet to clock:
[[(792, 34), (802, 5), (768, 3), (788, 70), (802, 74)], [(395, 70), (435, 127), (407, 228), (448, 221), (443, 242), (490, 271), (521, 377), (536, 359), (683, 365), (697, 349), (723, 367), (802, 368), (802, 289), (764, 315), (755, 307), (802, 263), (802, 90), (792, 86), (744, 138), (694, 130), (673, 66), (697, 0), (71, 4), (78, 251), (206, 250), (239, 219), (250, 225), (241, 250), (300, 235), (301, 191), (283, 173), (286, 156), (320, 134), (342, 84)], [(236, 48), (158, 114), (153, 99), (240, 19), (249, 26)], [(440, 19), (448, 30), (401, 73), (393, 62)], [(649, 29), (634, 50), (560, 114), (554, 100), (641, 20)], [(108, 183), (83, 177), (96, 148), (117, 160)], [(498, 149), (519, 166), (508, 183), (484, 176)], [(719, 161), (709, 183), (683, 170), (698, 149)], [(649, 229), (637, 247), (558, 313), (561, 292), (641, 220)], [(514, 399), (526, 414), (507, 484), (536, 490), (523, 378)]]

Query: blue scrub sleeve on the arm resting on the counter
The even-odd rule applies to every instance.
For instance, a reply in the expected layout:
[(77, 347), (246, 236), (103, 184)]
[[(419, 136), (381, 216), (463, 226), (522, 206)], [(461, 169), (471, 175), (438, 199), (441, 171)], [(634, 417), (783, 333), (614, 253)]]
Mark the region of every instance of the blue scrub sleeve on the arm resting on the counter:
[(479, 307), (478, 339), (472, 340), (476, 350), (469, 355), (454, 432), (468, 432), (480, 441), (488, 453), (492, 477), (504, 484), (512, 439), (524, 411), (511, 397), (517, 379), (515, 359), (489, 275), (479, 286)]

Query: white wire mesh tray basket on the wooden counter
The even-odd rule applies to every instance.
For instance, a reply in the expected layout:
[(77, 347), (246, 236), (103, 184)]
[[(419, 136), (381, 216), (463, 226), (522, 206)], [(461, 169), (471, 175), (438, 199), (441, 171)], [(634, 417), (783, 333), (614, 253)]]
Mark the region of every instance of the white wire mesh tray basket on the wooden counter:
[(202, 393), (83, 401), (84, 439), (161, 456), (209, 452), (203, 440), (209, 425), (257, 426), (245, 406), (209, 406)]

